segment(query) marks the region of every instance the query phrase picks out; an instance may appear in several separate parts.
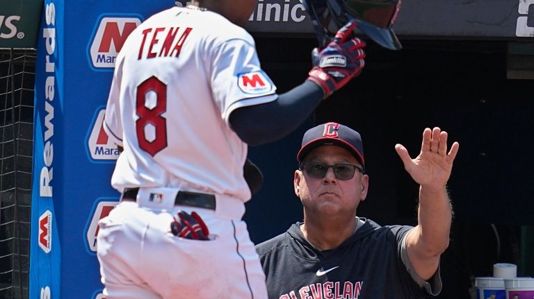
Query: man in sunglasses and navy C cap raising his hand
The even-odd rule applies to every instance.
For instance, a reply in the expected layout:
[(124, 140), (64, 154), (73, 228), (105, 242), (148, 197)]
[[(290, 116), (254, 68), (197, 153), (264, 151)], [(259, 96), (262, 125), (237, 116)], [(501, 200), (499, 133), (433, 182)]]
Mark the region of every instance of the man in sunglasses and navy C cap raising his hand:
[(309, 129), (293, 180), (304, 221), (257, 246), (269, 298), (436, 296), (452, 219), (446, 182), (459, 148), (454, 142), (447, 152), (447, 137), (426, 128), (414, 159), (395, 146), (419, 184), (419, 224), (380, 226), (356, 216), (369, 188), (359, 133), (333, 122)]

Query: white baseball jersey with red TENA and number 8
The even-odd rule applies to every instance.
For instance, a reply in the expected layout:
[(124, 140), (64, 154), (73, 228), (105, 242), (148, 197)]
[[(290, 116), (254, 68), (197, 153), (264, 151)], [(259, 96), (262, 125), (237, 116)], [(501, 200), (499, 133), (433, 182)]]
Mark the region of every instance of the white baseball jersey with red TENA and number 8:
[(229, 127), (229, 114), (275, 99), (243, 28), (188, 8), (150, 17), (115, 62), (104, 129), (124, 152), (113, 187), (179, 187), (248, 200), (247, 145)]

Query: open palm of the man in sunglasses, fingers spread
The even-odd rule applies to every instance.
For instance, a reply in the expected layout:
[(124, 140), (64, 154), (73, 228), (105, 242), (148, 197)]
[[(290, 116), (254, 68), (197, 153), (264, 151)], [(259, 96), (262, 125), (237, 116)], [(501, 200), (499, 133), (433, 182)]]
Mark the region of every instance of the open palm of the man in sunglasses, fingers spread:
[(419, 185), (442, 190), (451, 176), (459, 146), (458, 142), (454, 142), (447, 153), (447, 133), (436, 127), (433, 130), (426, 128), (423, 131), (421, 153), (414, 159), (401, 144), (396, 144), (395, 150), (403, 160), (406, 171)]

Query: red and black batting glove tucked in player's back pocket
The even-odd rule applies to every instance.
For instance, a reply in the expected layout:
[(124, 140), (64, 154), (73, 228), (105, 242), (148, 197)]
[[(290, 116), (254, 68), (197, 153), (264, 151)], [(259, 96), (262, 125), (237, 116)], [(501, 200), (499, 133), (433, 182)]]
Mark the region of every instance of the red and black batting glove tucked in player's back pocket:
[(179, 211), (175, 220), (170, 223), (170, 231), (177, 237), (193, 240), (209, 240), (209, 230), (206, 223), (196, 212), (191, 215)]

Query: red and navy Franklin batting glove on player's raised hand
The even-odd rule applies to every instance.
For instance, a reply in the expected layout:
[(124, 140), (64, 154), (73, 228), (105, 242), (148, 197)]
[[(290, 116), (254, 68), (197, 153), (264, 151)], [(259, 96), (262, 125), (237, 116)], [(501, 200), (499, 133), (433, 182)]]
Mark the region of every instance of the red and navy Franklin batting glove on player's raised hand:
[(324, 49), (312, 51), (314, 68), (309, 71), (307, 80), (319, 85), (325, 98), (362, 72), (365, 65), (365, 42), (357, 37), (346, 41), (356, 24), (355, 19), (350, 20)]

